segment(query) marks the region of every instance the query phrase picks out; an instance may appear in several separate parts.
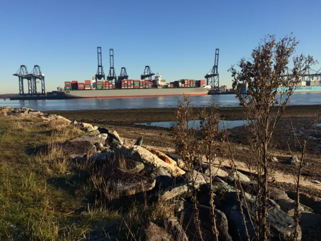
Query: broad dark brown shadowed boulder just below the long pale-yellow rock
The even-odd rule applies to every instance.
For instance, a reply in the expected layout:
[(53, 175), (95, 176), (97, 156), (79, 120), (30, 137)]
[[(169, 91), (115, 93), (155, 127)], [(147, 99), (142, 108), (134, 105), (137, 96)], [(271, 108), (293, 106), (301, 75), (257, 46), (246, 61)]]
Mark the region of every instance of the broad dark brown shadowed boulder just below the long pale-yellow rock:
[(105, 181), (109, 183), (114, 192), (120, 196), (151, 190), (155, 180), (151, 178), (124, 172), (117, 167), (111, 167), (104, 173)]

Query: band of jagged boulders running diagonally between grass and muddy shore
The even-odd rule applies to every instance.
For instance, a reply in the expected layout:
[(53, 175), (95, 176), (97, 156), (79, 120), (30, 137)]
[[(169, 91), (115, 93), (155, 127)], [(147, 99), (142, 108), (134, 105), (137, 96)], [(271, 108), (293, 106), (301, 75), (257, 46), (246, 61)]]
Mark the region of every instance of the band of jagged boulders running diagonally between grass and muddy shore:
[[(144, 223), (136, 233), (132, 234), (130, 238), (132, 240), (195, 240), (197, 228), (193, 222), (195, 215), (191, 198), (193, 190), (197, 190), (197, 208), (203, 238), (215, 240), (210, 215), (210, 179), (212, 179), (212, 189), (215, 193), (214, 204), (219, 240), (246, 240), (245, 226), (249, 238), (252, 239), (255, 236), (255, 230), (250, 225), (250, 218), (255, 218), (255, 183), (251, 181), (252, 175), (244, 165), (240, 164), (237, 172), (225, 168), (227, 165), (225, 167), (214, 165), (211, 169), (216, 170), (216, 175), (211, 176), (209, 165), (203, 161), (196, 170), (191, 171), (182, 158), (175, 154), (175, 150), (145, 145), (143, 136), (138, 137), (137, 140), (132, 140), (132, 137), (123, 138), (117, 131), (106, 125), (95, 126), (83, 122), (85, 117), (70, 120), (58, 114), (10, 107), (1, 107), (0, 116), (34, 118), (44, 123), (59, 120), (62, 128), (73, 126), (84, 132), (85, 135), (57, 145), (63, 149), (65, 161), (87, 165), (92, 167), (93, 172), (101, 173), (108, 188), (117, 190), (118, 204), (113, 202), (115, 206), (123, 203), (120, 200), (127, 200), (128, 197), (139, 200), (141, 195), (147, 196), (148, 205), (166, 201), (173, 203), (175, 215)], [(92, 119), (92, 123), (99, 122)], [(34, 154), (39, 151), (35, 148)], [(272, 161), (277, 162), (277, 159)], [(241, 181), (245, 191), (239, 201), (237, 198), (239, 190), (235, 189), (235, 180)], [(281, 180), (282, 177), (278, 179), (278, 181)], [(276, 187), (270, 188), (269, 193), (267, 221), (271, 240), (288, 240), (294, 225), (292, 216), (296, 194), (291, 190), (281, 190)], [(321, 198), (301, 193), (300, 199), (302, 215), (297, 240), (320, 240), (321, 233), (316, 229), (321, 226), (321, 215), (319, 215)], [(117, 208), (120, 207), (117, 206)], [(246, 223), (243, 222), (242, 217), (244, 209), (248, 210), (245, 213)], [(310, 225), (303, 222), (307, 218), (311, 220)], [(108, 236), (112, 240), (116, 238), (113, 233)]]

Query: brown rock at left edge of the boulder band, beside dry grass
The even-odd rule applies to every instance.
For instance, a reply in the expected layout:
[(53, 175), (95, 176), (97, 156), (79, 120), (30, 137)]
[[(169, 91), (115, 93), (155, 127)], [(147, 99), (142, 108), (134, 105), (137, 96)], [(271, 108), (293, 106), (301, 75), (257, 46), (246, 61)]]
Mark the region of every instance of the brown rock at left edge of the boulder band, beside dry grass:
[(96, 153), (96, 147), (89, 141), (84, 140), (70, 140), (62, 144), (63, 152), (66, 156), (71, 158), (93, 155)]

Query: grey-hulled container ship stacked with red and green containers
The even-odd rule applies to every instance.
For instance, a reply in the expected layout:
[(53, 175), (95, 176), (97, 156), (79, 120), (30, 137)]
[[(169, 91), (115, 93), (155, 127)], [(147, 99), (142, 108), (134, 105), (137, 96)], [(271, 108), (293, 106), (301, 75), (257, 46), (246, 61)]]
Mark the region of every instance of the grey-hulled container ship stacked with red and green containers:
[[(205, 80), (182, 79), (170, 83), (155, 76), (155, 80), (77, 80), (65, 81), (62, 89), (65, 98), (126, 98), (126, 97), (154, 97), (207, 95), (211, 86), (205, 85)], [(56, 91), (51, 92), (55, 95)], [(50, 95), (50, 93), (47, 93)]]

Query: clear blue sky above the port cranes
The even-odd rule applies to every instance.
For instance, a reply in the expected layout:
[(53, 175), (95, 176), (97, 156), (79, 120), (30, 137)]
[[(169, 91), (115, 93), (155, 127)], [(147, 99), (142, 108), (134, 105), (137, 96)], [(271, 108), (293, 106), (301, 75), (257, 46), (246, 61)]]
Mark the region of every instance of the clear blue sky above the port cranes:
[(320, 9), (319, 0), (1, 0), (0, 93), (18, 93), (22, 64), (41, 66), (47, 91), (91, 79), (97, 46), (105, 73), (113, 48), (117, 75), (126, 67), (138, 79), (150, 65), (168, 81), (204, 79), (219, 48), (220, 82), (231, 86), (227, 69), (266, 34), (293, 32), (297, 53), (321, 62)]

